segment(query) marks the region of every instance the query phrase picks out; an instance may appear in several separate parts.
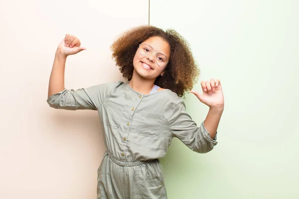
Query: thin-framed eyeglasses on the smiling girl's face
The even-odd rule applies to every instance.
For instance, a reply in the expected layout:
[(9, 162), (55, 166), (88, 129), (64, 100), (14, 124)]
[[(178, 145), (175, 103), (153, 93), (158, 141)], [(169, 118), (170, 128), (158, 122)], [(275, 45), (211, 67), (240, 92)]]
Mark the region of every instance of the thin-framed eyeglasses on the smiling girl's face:
[[(156, 51), (156, 50), (154, 50), (153, 47), (151, 47), (151, 45), (149, 45), (147, 43), (139, 44), (138, 52), (141, 55), (149, 55), (149, 54), (153, 53), (154, 51)], [(156, 60), (156, 63), (158, 66), (164, 67), (168, 64), (168, 58), (163, 53), (156, 51), (154, 57), (155, 57), (155, 60)]]

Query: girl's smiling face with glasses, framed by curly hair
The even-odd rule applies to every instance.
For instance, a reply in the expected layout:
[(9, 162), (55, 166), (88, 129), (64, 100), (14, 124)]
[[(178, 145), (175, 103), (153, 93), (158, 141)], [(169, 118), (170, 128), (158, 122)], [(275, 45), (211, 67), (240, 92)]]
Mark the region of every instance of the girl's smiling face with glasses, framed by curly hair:
[[(167, 60), (164, 59), (166, 56), (169, 61), (170, 46), (167, 41), (157, 36), (150, 37), (143, 43), (146, 45), (139, 47), (133, 59), (135, 73), (146, 79), (156, 79), (163, 74), (167, 66), (165, 65)], [(152, 48), (148, 49), (148, 47)]]

